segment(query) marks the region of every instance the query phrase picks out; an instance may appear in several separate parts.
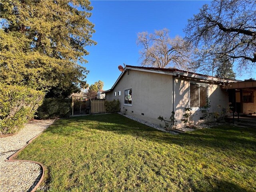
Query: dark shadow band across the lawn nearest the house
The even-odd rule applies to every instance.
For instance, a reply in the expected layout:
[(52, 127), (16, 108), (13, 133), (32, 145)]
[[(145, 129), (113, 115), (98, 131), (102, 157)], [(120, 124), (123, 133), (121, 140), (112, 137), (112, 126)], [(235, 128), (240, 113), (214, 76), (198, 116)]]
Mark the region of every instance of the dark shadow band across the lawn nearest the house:
[[(130, 135), (135, 138), (144, 138), (158, 143), (178, 144), (180, 146), (200, 146), (214, 149), (219, 148), (221, 150), (240, 150), (246, 147), (256, 150), (256, 131), (251, 128), (224, 125), (218, 128), (172, 135), (145, 126), (119, 114), (58, 120), (46, 132), (77, 137), (77, 132), (88, 131), (88, 129)], [(244, 135), (241, 133), (244, 133)], [(251, 133), (251, 135), (248, 133)]]

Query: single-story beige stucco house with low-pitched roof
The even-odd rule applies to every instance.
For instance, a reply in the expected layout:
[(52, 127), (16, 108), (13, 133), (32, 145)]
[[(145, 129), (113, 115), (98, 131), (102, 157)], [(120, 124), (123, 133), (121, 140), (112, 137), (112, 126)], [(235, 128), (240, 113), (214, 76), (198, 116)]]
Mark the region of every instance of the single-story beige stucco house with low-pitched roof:
[[(159, 124), (159, 116), (169, 120), (174, 111), (179, 127), (184, 118), (184, 108), (192, 108), (194, 123), (202, 119), (200, 107), (206, 104), (207, 96), (210, 99), (210, 112), (220, 112), (226, 108), (234, 99), (222, 85), (236, 82), (240, 81), (220, 80), (175, 68), (126, 65), (112, 88), (102, 93), (106, 94), (107, 100), (120, 100), (120, 109), (124, 107), (126, 114), (152, 123)], [(254, 98), (254, 111), (255, 103)]]

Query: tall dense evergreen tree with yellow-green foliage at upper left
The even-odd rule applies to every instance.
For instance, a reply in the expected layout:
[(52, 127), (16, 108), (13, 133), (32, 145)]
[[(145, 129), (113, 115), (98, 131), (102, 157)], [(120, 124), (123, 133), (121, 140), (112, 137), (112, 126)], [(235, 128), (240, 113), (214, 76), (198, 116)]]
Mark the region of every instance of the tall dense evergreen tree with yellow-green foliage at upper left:
[(78, 62), (96, 44), (91, 10), (88, 0), (1, 1), (0, 82), (44, 91), (85, 84)]

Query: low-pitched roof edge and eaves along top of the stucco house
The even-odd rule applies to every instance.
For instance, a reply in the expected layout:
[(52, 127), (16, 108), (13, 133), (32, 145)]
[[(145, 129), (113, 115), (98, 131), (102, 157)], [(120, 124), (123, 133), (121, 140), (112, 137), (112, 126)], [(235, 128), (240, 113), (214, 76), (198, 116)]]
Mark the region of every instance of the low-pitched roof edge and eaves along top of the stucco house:
[(199, 74), (199, 73), (194, 73), (194, 72), (189, 72), (189, 71), (184, 71), (184, 70), (179, 70), (176, 68), (156, 68), (156, 67), (143, 67), (143, 66), (132, 66), (132, 65), (126, 65), (124, 68), (124, 71), (120, 74), (114, 85), (112, 86), (111, 89), (106, 90), (102, 93), (110, 92), (114, 86), (118, 83), (120, 78), (123, 76), (123, 74), (126, 72), (126, 70), (139, 70), (139, 71), (145, 71), (145, 72), (153, 72), (153, 73), (159, 73), (159, 74), (168, 74), (168, 75), (174, 75), (174, 76), (184, 76), (187, 78), (196, 78), (200, 80), (206, 80), (206, 81), (214, 81), (214, 82), (238, 82), (240, 80), (235, 80), (235, 79), (221, 79), (221, 78), (216, 78), (213, 76), (208, 76), (204, 74)]

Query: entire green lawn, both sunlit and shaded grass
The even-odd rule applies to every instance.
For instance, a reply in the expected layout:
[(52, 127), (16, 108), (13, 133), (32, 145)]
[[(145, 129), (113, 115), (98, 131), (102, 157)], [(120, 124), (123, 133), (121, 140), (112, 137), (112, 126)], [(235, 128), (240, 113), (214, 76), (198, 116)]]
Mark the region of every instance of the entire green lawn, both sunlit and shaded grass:
[(256, 130), (179, 135), (119, 114), (57, 120), (18, 159), (41, 162), (52, 191), (256, 191)]

